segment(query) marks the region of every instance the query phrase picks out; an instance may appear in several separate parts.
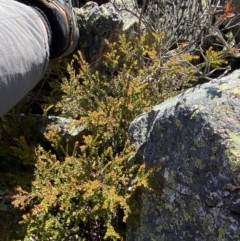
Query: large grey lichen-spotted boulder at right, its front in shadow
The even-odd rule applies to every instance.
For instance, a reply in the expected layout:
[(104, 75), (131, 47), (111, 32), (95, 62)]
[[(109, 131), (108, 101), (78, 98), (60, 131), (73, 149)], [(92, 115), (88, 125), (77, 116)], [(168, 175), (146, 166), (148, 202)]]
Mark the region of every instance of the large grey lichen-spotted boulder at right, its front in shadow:
[[(162, 163), (162, 193), (143, 191), (127, 240), (240, 240), (240, 71), (139, 116), (136, 161)], [(161, 179), (159, 179), (161, 180)]]

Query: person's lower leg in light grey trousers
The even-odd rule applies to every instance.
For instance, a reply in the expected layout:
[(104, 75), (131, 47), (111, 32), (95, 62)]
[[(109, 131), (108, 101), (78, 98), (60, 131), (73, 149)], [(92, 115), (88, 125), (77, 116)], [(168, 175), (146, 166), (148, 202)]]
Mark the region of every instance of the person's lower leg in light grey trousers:
[(48, 35), (37, 12), (0, 0), (0, 117), (41, 80), (48, 62)]

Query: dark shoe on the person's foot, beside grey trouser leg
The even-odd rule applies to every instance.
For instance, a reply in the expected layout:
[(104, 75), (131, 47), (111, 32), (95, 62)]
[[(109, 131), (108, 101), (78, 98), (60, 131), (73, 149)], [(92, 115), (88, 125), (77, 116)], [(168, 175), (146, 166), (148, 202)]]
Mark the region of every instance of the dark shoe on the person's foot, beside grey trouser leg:
[(71, 54), (78, 45), (79, 29), (71, 0), (19, 0), (46, 16), (51, 29), (50, 58)]

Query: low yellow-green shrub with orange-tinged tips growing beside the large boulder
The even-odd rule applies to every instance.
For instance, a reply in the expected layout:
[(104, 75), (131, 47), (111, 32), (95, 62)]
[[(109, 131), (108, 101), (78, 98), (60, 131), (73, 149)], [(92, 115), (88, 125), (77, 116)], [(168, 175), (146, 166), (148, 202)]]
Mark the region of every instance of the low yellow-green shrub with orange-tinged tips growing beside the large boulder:
[[(8, 197), (21, 215), (19, 237), (13, 232), (5, 240), (124, 240), (125, 222), (138, 225), (135, 195), (142, 187), (160, 192), (162, 180), (152, 181), (155, 169), (132, 163), (129, 125), (196, 80), (191, 61), (197, 57), (181, 46), (162, 56), (163, 37), (153, 34), (150, 44), (146, 34), (135, 41), (119, 35), (106, 41), (95, 65), (78, 52), (66, 77), (51, 80), (58, 95), (46, 98), (41, 120), (31, 113), (19, 118), (29, 98), (2, 118), (1, 165), (10, 178), (1, 182), (9, 182)], [(57, 128), (41, 135), (49, 112), (88, 129), (71, 153)]]

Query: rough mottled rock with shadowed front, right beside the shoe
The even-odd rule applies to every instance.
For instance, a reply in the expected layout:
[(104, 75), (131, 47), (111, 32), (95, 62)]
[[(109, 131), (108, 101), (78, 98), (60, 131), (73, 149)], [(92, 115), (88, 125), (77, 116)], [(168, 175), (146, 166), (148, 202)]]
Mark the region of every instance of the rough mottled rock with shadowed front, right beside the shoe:
[(104, 39), (109, 39), (119, 32), (122, 19), (114, 8), (107, 9), (95, 2), (88, 2), (76, 13), (79, 24), (79, 46), (88, 62), (99, 58), (104, 46)]

